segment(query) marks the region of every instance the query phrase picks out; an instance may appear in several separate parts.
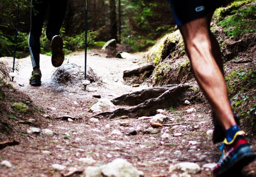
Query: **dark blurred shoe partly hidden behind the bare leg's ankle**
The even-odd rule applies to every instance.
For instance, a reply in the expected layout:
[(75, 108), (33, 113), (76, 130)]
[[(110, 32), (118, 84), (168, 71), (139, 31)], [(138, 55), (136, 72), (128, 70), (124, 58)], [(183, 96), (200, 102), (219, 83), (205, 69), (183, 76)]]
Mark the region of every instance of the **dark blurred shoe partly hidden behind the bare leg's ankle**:
[[(215, 114), (215, 112), (213, 112), (212, 115), (213, 115), (213, 125), (214, 125), (212, 141), (215, 144), (217, 142), (223, 142), (224, 141), (225, 130), (223, 129), (223, 127), (219, 123), (219, 120), (218, 120), (217, 115)], [(234, 112), (233, 112), (233, 115), (234, 115), (236, 124), (239, 125), (239, 118), (237, 117), (237, 115)]]

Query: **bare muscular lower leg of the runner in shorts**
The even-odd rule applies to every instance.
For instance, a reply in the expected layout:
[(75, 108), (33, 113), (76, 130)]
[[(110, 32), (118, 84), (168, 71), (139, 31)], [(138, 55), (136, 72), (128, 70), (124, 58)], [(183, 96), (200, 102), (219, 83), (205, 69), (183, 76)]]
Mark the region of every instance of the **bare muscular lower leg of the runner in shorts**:
[(209, 21), (209, 17), (198, 18), (179, 29), (197, 82), (224, 129), (228, 129), (236, 122), (228, 100), (222, 61), (216, 58), (221, 57), (218, 43), (210, 32)]

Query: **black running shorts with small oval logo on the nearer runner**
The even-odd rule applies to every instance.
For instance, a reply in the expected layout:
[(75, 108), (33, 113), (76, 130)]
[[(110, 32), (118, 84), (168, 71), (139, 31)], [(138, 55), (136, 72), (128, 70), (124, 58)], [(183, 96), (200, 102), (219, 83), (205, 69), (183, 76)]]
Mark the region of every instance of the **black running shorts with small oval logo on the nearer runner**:
[(167, 0), (171, 2), (173, 16), (178, 27), (183, 24), (205, 17), (215, 9), (226, 6), (230, 0)]

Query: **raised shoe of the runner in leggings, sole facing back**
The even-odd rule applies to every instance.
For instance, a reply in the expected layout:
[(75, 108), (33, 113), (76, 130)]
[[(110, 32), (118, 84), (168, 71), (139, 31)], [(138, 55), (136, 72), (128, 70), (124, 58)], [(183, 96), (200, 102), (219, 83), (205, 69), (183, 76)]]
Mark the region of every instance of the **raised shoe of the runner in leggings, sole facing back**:
[(52, 65), (54, 67), (59, 67), (64, 61), (64, 52), (63, 52), (63, 41), (62, 38), (58, 35), (52, 37), (51, 42), (52, 48)]

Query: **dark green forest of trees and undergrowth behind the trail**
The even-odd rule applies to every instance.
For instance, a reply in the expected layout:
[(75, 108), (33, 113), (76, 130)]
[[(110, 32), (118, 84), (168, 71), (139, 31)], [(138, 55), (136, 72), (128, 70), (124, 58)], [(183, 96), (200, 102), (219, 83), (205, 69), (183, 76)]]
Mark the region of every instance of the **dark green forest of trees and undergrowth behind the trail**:
[[(66, 54), (84, 48), (85, 0), (69, 0), (61, 35)], [(15, 25), (19, 8), (16, 57), (29, 54), (30, 1), (1, 0), (0, 57), (12, 56)], [(87, 2), (89, 48), (100, 48), (110, 39), (127, 44), (133, 51), (146, 50), (156, 39), (175, 28), (171, 6), (166, 0), (92, 0)], [(46, 13), (45, 22), (47, 22)], [(50, 55), (45, 27), (41, 36), (41, 54)]]

